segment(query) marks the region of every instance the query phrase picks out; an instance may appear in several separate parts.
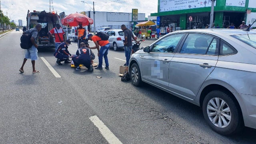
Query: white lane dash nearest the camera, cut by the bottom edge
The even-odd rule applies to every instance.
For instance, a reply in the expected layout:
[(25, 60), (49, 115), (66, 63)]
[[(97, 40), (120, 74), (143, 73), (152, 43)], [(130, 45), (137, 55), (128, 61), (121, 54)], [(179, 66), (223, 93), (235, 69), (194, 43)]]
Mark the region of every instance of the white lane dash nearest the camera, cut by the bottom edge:
[(108, 129), (107, 126), (105, 126), (98, 116), (91, 116), (90, 120), (100, 130), (100, 133), (109, 144), (122, 144), (122, 142)]

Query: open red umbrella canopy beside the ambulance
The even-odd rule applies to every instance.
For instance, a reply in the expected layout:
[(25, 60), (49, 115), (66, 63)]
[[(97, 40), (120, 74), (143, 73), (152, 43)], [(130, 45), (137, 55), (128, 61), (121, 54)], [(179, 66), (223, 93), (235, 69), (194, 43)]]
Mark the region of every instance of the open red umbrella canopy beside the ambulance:
[(65, 26), (78, 26), (78, 23), (80, 22), (82, 22), (82, 26), (88, 26), (89, 24), (93, 24), (93, 20), (91, 18), (78, 12), (74, 14), (69, 14), (61, 20), (61, 23)]

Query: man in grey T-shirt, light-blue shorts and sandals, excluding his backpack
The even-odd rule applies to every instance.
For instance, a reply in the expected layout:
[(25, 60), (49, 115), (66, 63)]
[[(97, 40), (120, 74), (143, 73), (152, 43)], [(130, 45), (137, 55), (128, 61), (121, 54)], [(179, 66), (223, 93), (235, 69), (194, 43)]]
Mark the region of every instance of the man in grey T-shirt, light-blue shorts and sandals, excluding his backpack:
[(26, 50), (25, 58), (23, 60), (22, 66), (19, 70), (20, 72), (24, 72), (23, 67), (24, 67), (24, 65), (25, 65), (25, 63), (28, 59), (31, 59), (32, 68), (33, 68), (32, 73), (34, 74), (34, 73), (39, 72), (38, 70), (35, 69), (35, 60), (38, 60), (38, 56), (37, 56), (38, 45), (36, 44), (36, 42), (37, 42), (37, 38), (38, 38), (38, 36), (37, 36), (38, 32), (41, 30), (41, 28), (42, 28), (41, 24), (36, 24), (35, 28), (32, 28), (30, 30), (27, 30), (27, 31), (23, 32), (23, 34), (30, 33), (32, 35), (30, 40), (31, 40), (33, 45), (31, 46), (31, 48)]

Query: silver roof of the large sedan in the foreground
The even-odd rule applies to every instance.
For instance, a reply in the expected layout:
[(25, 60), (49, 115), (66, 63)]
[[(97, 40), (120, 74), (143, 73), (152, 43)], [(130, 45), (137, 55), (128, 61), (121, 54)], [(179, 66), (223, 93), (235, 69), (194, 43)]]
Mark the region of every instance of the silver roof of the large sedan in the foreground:
[[(239, 34), (256, 34), (256, 31), (250, 30), (240, 30), (240, 29), (222, 29), (222, 28), (209, 28), (209, 29), (193, 29), (193, 30), (180, 30), (176, 31), (176, 33), (188, 33), (188, 32), (202, 32), (207, 34), (214, 34), (220, 36), (232, 36), (232, 35), (239, 35)], [(173, 32), (171, 32), (173, 34)]]

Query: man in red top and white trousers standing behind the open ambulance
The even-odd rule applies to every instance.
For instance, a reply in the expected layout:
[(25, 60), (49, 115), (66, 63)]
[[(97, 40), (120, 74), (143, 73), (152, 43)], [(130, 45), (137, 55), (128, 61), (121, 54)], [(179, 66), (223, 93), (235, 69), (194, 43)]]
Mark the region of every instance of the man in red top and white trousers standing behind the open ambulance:
[(56, 23), (55, 28), (50, 30), (47, 34), (49, 37), (55, 38), (55, 50), (57, 50), (58, 46), (64, 42), (64, 30), (60, 27), (59, 23)]

